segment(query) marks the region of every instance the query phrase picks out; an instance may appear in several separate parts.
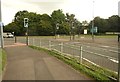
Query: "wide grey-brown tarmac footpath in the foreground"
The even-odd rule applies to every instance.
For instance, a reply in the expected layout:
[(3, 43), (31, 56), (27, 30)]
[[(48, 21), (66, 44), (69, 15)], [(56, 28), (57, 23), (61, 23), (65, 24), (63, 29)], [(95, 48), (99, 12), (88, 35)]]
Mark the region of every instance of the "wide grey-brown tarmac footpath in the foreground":
[(5, 45), (5, 51), (3, 80), (93, 80), (46, 52), (22, 43)]

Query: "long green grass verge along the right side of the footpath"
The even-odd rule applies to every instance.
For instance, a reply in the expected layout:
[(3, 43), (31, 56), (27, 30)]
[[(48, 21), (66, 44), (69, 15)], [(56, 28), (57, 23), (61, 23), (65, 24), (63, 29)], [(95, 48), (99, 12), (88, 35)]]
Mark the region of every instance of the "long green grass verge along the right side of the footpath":
[[(82, 72), (92, 78), (94, 78), (95, 80), (99, 81), (99, 82), (115, 82), (115, 80), (110, 79), (109, 77), (107, 77), (105, 74), (106, 73), (110, 73), (109, 71), (104, 70), (104, 68), (99, 68), (99, 67), (94, 67), (94, 69), (97, 70), (93, 70), (91, 69), (91, 67), (86, 67), (83, 64), (80, 64), (77, 62), (77, 60), (75, 58), (72, 57), (65, 57), (64, 55), (61, 55), (60, 53), (56, 52), (56, 51), (50, 51), (44, 48), (39, 48), (39, 47), (35, 47), (35, 46), (30, 46), (33, 49), (37, 49), (37, 50), (42, 50), (47, 52), (48, 54), (57, 57), (58, 59), (64, 61), (66, 64), (70, 65), (71, 67), (73, 67), (74, 69), (78, 70), (79, 72)], [(101, 73), (103, 72), (103, 73)]]

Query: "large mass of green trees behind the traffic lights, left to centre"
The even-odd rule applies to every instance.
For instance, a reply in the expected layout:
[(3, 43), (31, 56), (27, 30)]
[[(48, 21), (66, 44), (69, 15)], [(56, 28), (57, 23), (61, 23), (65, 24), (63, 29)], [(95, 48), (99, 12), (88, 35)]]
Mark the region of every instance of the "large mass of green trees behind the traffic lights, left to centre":
[[(74, 14), (65, 16), (60, 9), (54, 10), (51, 16), (48, 14), (40, 15), (26, 10), (18, 11), (13, 22), (6, 25), (4, 31), (15, 31), (16, 35), (25, 35), (27, 28), (24, 27), (24, 18), (28, 18), (29, 35), (54, 35), (57, 23), (59, 23), (57, 33), (69, 34), (72, 27), (78, 27), (74, 17)], [(66, 22), (66, 18), (70, 20), (69, 23)], [(74, 32), (76, 33), (76, 31)]]

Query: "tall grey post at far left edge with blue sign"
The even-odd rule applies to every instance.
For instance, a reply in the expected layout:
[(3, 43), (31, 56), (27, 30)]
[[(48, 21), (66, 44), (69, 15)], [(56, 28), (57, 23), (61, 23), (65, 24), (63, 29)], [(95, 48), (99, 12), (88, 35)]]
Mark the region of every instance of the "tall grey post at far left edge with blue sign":
[(1, 38), (1, 48), (4, 48), (1, 0), (0, 0), (0, 31), (1, 31), (1, 36), (0, 36), (0, 38)]

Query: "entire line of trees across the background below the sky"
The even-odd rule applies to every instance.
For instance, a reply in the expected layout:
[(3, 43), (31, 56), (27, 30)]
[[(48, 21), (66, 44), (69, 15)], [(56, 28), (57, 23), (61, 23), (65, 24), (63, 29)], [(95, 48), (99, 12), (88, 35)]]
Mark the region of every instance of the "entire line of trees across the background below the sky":
[[(78, 21), (74, 14), (64, 14), (62, 10), (54, 10), (51, 15), (36, 14), (34, 12), (18, 11), (11, 23), (4, 27), (4, 32), (15, 32), (15, 35), (25, 35), (24, 18), (28, 18), (29, 35), (55, 35), (71, 33), (81, 34), (84, 29), (92, 27), (92, 21)], [(120, 17), (113, 15), (108, 19), (94, 18), (94, 26), (98, 27), (98, 33), (120, 32)], [(58, 28), (59, 27), (59, 28)]]

